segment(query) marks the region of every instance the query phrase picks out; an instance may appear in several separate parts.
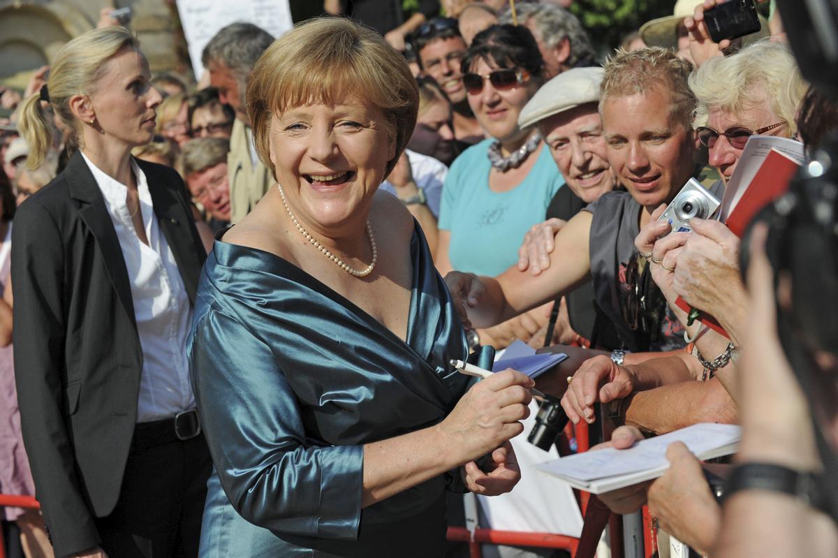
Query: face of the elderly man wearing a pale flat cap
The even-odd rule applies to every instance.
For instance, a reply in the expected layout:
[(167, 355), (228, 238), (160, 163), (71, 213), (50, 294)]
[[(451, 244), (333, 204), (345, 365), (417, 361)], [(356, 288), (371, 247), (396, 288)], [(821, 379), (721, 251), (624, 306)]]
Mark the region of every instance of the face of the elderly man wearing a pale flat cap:
[(591, 203), (614, 189), (617, 177), (608, 164), (603, 121), (596, 103), (549, 116), (539, 128), (573, 194)]

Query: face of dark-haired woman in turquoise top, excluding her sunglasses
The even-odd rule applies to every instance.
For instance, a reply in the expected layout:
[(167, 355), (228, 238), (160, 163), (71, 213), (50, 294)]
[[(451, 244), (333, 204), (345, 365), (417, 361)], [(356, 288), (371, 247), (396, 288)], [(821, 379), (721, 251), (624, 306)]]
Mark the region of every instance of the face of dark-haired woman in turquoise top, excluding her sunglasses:
[(530, 77), (509, 90), (498, 90), (487, 79), (494, 70), (499, 68), (490, 66), (484, 59), (474, 62), (470, 71), (484, 78), (483, 90), (468, 93), (468, 106), (471, 106), (474, 116), (489, 136), (500, 142), (509, 142), (522, 134), (518, 127), (518, 116), (535, 94), (538, 83)]

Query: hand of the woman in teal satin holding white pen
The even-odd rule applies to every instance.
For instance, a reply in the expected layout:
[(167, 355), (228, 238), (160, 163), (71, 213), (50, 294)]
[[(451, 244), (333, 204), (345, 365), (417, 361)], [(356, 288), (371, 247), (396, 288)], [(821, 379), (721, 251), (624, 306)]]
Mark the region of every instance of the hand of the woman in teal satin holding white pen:
[(480, 380), (436, 428), (461, 464), (492, 452), (524, 431), (535, 381), (513, 369)]

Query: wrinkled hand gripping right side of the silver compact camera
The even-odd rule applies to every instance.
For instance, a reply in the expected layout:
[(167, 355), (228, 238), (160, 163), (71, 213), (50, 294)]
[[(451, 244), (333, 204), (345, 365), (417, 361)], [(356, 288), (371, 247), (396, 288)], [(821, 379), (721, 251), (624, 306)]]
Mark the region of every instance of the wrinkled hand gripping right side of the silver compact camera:
[(740, 240), (716, 220), (693, 219), (692, 234), (680, 250), (672, 288), (691, 307), (722, 316), (731, 304), (745, 304), (739, 272)]

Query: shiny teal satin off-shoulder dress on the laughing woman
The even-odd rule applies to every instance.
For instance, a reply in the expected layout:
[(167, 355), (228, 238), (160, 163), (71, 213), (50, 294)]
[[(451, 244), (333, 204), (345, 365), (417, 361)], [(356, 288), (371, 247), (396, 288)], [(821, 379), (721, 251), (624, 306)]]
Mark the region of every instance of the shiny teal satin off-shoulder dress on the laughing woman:
[(442, 555), (453, 474), (361, 509), (362, 445), (436, 424), (468, 387), (447, 365), (468, 354), (463, 325), (417, 225), (410, 257), (405, 343), (281, 257), (215, 242), (189, 339), (217, 473), (202, 556)]

